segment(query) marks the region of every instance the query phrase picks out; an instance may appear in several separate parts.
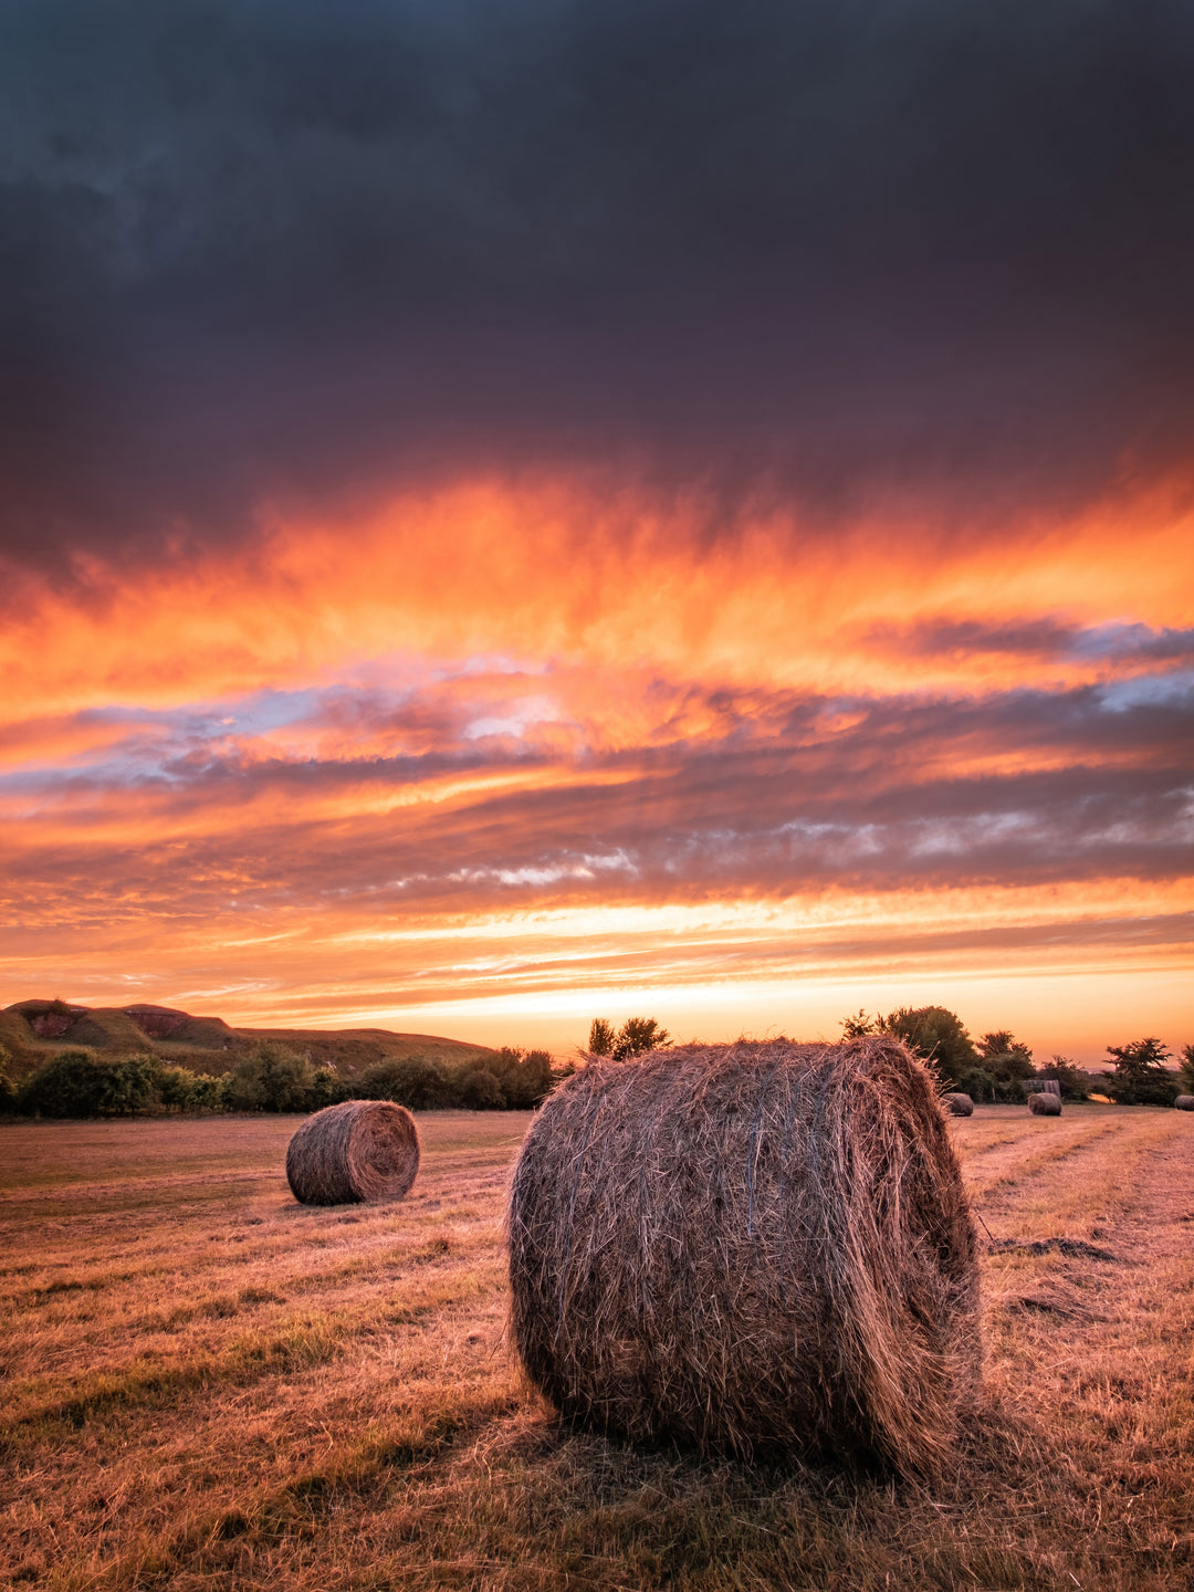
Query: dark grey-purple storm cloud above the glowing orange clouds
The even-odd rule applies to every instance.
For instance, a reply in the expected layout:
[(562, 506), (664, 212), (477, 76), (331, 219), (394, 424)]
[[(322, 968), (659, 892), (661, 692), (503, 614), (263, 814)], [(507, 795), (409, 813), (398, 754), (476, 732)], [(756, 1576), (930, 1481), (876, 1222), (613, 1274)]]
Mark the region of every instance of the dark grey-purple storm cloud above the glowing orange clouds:
[(471, 466), (1165, 468), (1192, 65), (1178, 3), (10, 3), (2, 546)]

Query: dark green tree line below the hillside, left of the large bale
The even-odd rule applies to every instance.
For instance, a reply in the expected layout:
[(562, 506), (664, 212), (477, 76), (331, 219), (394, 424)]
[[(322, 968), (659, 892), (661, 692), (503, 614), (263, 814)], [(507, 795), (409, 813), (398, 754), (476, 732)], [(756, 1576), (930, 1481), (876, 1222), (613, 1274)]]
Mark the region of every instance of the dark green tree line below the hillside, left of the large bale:
[(454, 1065), (428, 1055), (387, 1057), (345, 1076), (272, 1040), (250, 1046), (218, 1076), (156, 1055), (107, 1060), (62, 1051), (14, 1083), (6, 1062), (0, 1046), (0, 1111), (46, 1118), (318, 1111), (341, 1100), (393, 1100), (414, 1111), (525, 1111), (540, 1105), (557, 1076), (546, 1051), (509, 1046)]

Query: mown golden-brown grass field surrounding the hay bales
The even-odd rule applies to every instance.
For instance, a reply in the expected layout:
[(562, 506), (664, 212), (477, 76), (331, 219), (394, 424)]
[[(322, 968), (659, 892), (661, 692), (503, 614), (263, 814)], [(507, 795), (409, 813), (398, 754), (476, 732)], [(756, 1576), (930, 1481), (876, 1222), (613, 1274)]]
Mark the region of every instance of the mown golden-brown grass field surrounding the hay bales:
[(422, 1118), (368, 1210), (295, 1205), (296, 1121), (0, 1129), (11, 1582), (1194, 1587), (1192, 1116), (954, 1124), (987, 1372), (933, 1492), (560, 1431), (503, 1339), (529, 1118)]

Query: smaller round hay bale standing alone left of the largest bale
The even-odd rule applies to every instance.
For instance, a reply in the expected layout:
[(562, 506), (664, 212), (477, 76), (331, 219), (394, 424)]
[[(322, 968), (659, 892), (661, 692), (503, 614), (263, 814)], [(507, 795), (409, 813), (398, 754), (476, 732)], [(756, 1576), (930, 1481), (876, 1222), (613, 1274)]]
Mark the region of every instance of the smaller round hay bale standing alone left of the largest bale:
[(301, 1205), (401, 1199), (419, 1170), (419, 1130), (401, 1105), (345, 1100), (309, 1116), (287, 1148)]

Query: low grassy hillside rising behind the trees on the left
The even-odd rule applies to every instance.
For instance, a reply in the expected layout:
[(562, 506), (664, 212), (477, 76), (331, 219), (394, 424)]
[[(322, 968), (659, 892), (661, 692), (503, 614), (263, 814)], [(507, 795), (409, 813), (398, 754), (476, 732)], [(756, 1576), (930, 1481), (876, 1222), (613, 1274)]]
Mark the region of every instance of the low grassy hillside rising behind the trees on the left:
[(22, 1000), (0, 1009), (0, 1044), (19, 1078), (65, 1049), (124, 1055), (151, 1051), (193, 1071), (228, 1071), (236, 1054), (259, 1040), (275, 1040), (318, 1065), (352, 1076), (385, 1057), (425, 1055), (436, 1062), (470, 1062), (487, 1055), (484, 1044), (431, 1033), (388, 1028), (232, 1028), (223, 1017), (196, 1017), (172, 1006), (78, 1006), (62, 1000)]

